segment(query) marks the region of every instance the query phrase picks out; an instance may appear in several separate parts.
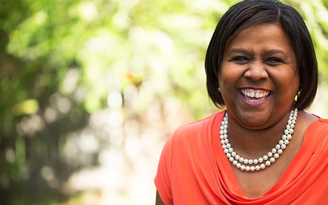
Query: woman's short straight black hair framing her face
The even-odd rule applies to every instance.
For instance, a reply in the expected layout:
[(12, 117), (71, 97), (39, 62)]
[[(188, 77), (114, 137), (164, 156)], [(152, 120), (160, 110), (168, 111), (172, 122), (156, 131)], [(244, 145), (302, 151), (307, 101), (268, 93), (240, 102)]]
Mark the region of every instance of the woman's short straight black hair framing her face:
[(289, 37), (296, 55), (301, 95), (295, 108), (310, 107), (318, 87), (318, 64), (312, 39), (301, 15), (291, 6), (277, 0), (245, 0), (232, 7), (220, 18), (205, 58), (207, 90), (216, 107), (224, 106), (218, 92), (221, 61), (231, 40), (241, 31), (258, 24), (279, 25)]

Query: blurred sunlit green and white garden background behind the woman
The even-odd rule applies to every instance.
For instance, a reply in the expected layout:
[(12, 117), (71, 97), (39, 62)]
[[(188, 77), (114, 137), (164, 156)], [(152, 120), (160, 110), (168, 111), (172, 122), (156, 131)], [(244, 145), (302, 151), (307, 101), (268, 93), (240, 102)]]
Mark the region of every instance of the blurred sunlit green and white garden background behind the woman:
[[(204, 55), (236, 1), (0, 2), (0, 204), (154, 204), (163, 143), (218, 110)], [(328, 117), (328, 1), (304, 17)]]

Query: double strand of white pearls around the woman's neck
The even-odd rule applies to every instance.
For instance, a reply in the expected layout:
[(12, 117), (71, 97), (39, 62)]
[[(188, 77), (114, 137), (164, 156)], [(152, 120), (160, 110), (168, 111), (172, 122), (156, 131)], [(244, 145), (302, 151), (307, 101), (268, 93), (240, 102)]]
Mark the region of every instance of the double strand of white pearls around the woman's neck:
[(234, 151), (228, 139), (228, 113), (224, 115), (223, 120), (221, 121), (220, 126), (220, 139), (222, 144), (222, 149), (227, 155), (229, 161), (232, 162), (234, 166), (242, 171), (260, 171), (269, 167), (271, 163), (274, 163), (276, 159), (282, 154), (283, 150), (286, 149), (286, 146), (289, 144), (289, 141), (292, 139), (292, 134), (294, 133), (294, 128), (297, 120), (297, 109), (291, 111), (291, 115), (286, 125), (286, 129), (283, 131), (283, 135), (279, 140), (278, 144), (272, 148), (268, 154), (263, 157), (256, 159), (246, 159), (241, 157)]

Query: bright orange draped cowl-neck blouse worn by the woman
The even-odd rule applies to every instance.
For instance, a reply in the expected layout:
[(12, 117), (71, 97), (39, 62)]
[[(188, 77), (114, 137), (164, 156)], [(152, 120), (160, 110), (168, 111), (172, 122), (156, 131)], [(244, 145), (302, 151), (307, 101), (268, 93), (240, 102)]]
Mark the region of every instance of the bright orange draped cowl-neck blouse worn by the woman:
[(289, 167), (261, 197), (248, 198), (224, 154), (219, 112), (177, 129), (167, 140), (155, 185), (165, 204), (328, 204), (328, 120), (306, 129)]

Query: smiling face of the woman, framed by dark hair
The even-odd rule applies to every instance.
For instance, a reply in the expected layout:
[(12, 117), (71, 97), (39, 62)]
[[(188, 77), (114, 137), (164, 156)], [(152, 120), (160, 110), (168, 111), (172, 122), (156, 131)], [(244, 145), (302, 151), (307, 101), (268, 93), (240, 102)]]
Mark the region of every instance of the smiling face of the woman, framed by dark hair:
[(299, 87), (295, 52), (276, 24), (237, 34), (221, 63), (219, 86), (231, 117), (243, 127), (272, 126), (290, 109)]

